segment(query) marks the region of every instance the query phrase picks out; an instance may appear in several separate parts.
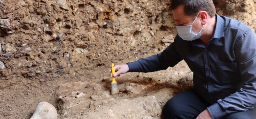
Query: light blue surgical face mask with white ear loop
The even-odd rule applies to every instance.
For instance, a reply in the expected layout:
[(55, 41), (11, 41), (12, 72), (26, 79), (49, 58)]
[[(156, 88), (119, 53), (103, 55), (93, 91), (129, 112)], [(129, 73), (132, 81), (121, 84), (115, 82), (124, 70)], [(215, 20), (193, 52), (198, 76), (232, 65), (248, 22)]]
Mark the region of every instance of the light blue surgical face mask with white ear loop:
[[(198, 16), (198, 14), (197, 14), (197, 16)], [(196, 18), (197, 18), (197, 16), (196, 16)], [(195, 20), (194, 20), (194, 22), (195, 22)], [(194, 22), (191, 25), (187, 25), (187, 26), (176, 26), (178, 35), (180, 36), (180, 38), (182, 38), (183, 40), (192, 41), (195, 39), (199, 39), (201, 37), (201, 33), (204, 28), (204, 25), (198, 34), (194, 34), (193, 29), (192, 29), (192, 25), (194, 24)]]

